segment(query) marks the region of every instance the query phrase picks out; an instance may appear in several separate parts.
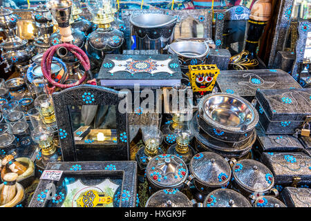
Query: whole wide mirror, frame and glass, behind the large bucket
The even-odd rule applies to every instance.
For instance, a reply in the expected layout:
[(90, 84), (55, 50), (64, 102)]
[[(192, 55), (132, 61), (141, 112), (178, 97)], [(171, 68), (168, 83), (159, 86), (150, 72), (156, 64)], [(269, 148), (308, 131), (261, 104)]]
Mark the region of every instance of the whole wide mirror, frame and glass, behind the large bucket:
[[(177, 17), (173, 39), (211, 38), (211, 10), (122, 10), (122, 20), (126, 26), (125, 38), (127, 49), (131, 49), (132, 27), (130, 17), (140, 14), (165, 14)], [(172, 40), (173, 40), (172, 39)]]

